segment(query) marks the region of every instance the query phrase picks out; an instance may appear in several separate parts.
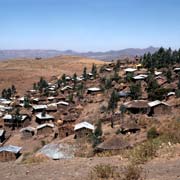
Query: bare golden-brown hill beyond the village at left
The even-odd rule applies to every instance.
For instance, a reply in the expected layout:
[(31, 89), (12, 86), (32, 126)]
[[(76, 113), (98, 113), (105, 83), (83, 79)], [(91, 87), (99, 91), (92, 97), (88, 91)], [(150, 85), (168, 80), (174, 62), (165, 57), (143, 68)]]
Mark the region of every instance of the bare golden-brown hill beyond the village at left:
[(14, 84), (20, 94), (31, 89), (34, 82), (42, 76), (50, 80), (52, 76), (61, 76), (63, 73), (72, 75), (81, 74), (86, 66), (90, 70), (92, 64), (104, 64), (95, 59), (59, 56), (41, 60), (9, 60), (0, 62), (0, 90)]

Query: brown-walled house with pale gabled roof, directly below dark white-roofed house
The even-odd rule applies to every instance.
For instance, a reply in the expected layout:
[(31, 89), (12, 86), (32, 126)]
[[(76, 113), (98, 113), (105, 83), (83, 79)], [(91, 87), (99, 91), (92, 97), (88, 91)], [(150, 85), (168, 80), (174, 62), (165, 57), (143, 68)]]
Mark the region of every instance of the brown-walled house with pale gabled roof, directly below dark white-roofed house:
[(37, 126), (37, 135), (49, 135), (54, 132), (54, 124), (44, 123)]

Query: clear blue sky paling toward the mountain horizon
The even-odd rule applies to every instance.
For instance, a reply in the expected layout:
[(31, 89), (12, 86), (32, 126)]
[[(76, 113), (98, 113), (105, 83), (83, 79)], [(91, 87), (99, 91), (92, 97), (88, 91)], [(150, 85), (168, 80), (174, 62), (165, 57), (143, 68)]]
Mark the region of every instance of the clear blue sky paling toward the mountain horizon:
[(0, 49), (180, 48), (179, 0), (0, 0)]

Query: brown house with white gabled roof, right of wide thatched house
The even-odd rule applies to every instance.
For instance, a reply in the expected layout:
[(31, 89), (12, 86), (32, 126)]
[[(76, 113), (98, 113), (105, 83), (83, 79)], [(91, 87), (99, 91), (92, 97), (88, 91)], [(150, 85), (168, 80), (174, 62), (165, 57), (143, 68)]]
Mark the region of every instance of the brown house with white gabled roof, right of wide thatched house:
[(169, 104), (156, 100), (148, 103), (149, 106), (149, 116), (156, 116), (156, 115), (166, 115), (171, 112), (171, 107)]

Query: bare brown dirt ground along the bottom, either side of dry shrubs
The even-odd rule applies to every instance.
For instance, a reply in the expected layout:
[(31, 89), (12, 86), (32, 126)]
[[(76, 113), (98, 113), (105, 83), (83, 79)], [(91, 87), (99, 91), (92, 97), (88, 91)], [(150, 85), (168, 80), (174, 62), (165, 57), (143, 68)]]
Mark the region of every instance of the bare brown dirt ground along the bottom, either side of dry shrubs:
[[(88, 179), (91, 169), (101, 163), (118, 168), (127, 165), (120, 156), (48, 160), (38, 164), (9, 162), (0, 163), (0, 174), (2, 180), (79, 180)], [(180, 157), (154, 159), (143, 165), (143, 171), (147, 180), (179, 180)]]

